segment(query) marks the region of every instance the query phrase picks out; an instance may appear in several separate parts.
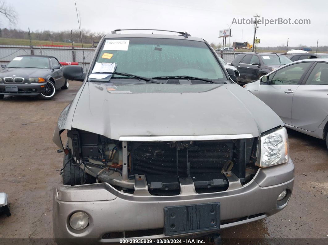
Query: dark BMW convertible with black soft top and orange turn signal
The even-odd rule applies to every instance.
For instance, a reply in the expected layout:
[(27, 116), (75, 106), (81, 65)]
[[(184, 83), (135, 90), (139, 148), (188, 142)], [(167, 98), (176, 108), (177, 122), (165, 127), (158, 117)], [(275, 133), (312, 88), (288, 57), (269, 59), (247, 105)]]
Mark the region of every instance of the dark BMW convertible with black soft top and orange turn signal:
[(53, 56), (21, 55), (2, 67), (0, 99), (5, 95), (38, 95), (51, 99), (57, 89), (68, 89), (62, 66)]

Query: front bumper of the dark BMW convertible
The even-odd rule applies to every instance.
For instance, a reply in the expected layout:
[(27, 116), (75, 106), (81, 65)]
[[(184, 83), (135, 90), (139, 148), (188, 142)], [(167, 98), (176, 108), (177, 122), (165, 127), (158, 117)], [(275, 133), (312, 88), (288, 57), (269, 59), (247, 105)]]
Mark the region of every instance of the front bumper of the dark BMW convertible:
[[(40, 83), (0, 83), (0, 95), (39, 95), (47, 82)], [(18, 92), (6, 91), (6, 86), (17, 86)], [(43, 86), (43, 87), (42, 87)]]

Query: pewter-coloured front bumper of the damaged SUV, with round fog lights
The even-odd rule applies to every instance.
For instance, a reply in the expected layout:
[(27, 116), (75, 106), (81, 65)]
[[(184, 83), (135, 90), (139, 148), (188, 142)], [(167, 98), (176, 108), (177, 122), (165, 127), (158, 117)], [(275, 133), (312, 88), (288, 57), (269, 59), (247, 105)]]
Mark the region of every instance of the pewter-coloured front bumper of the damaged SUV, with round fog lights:
[[(193, 184), (188, 183), (186, 178), (180, 179), (180, 184), (181, 193), (178, 196), (151, 196), (142, 181), (139, 184), (136, 182), (133, 195), (119, 192), (107, 183), (59, 185), (54, 189), (53, 198), (54, 237), (58, 244), (63, 243), (63, 238), (92, 238), (99, 243), (119, 243), (122, 238), (103, 238), (104, 234), (131, 231), (151, 234), (145, 230), (160, 231), (164, 226), (164, 207), (209, 202), (220, 202), (221, 229), (263, 219), (287, 205), (293, 190), (294, 164), (289, 160), (285, 164), (261, 168), (253, 180), (243, 186), (231, 178), (228, 190), (223, 192), (197, 194)], [(282, 205), (277, 204), (278, 195), (286, 189), (289, 193), (286, 201)], [(90, 219), (89, 226), (82, 231), (75, 231), (69, 225), (70, 216), (77, 211), (85, 212)], [(197, 234), (201, 233), (194, 235)], [(128, 239), (182, 236), (186, 235), (167, 237), (158, 233), (151, 236), (136, 235)], [(70, 240), (70, 243), (74, 240)], [(81, 242), (80, 239), (76, 240), (77, 243)]]

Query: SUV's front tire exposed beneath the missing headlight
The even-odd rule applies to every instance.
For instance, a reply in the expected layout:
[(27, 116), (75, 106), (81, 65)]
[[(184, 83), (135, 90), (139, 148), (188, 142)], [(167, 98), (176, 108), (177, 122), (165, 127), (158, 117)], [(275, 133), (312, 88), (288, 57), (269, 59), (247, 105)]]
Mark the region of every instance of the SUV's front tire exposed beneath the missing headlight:
[(83, 169), (80, 166), (73, 165), (75, 162), (74, 159), (71, 158), (71, 152), (68, 155), (64, 155), (62, 169), (63, 184), (77, 185), (96, 183), (96, 180), (93, 176), (87, 173), (83, 174)]

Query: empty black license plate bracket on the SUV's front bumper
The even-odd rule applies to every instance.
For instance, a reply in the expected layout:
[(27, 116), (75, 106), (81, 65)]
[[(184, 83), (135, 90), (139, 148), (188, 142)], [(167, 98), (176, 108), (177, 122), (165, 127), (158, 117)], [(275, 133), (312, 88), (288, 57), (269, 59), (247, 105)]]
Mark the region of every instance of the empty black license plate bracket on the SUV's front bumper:
[(220, 229), (220, 203), (206, 203), (164, 208), (164, 235)]

